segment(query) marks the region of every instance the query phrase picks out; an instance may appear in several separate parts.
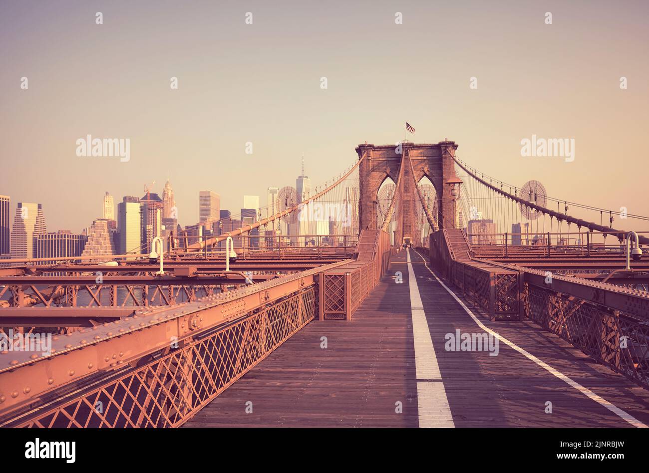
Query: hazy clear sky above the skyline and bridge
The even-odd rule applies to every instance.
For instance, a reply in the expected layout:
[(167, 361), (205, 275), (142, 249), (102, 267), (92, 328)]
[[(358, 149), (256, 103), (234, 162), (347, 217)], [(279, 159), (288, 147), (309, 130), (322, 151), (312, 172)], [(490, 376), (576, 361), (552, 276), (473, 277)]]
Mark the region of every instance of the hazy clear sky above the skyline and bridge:
[[(648, 14), (646, 1), (2, 0), (0, 194), (79, 232), (105, 191), (117, 203), (155, 180), (162, 195), (168, 170), (192, 224), (201, 189), (233, 213), (243, 195), (264, 205), (268, 186), (295, 186), (302, 152), (316, 186), (407, 120), (415, 141), (452, 139), (511, 184), (649, 215)], [(87, 134), (129, 138), (129, 162), (78, 157)], [(574, 138), (574, 161), (520, 156), (532, 134)]]

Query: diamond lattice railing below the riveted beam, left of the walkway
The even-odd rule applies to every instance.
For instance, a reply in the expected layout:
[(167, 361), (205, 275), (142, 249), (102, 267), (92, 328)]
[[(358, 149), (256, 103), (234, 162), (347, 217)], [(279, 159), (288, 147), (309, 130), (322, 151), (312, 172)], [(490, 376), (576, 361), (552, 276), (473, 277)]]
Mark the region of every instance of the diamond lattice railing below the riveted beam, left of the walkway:
[(298, 291), (81, 393), (26, 411), (10, 426), (177, 427), (311, 321), (315, 290)]

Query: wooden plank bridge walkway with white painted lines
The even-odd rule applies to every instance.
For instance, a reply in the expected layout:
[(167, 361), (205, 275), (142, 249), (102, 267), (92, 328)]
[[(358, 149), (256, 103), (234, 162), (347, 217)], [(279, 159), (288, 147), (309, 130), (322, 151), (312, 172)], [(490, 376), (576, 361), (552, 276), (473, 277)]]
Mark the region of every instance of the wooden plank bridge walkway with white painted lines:
[[(185, 426), (649, 425), (649, 392), (531, 322), (490, 322), (460, 299), (484, 328), (509, 344), (499, 341), (498, 356), (446, 351), (446, 334), (484, 328), (419, 254), (411, 250), (410, 256), (411, 265), (404, 252), (393, 257), (390, 271), (352, 321), (311, 322)], [(397, 271), (402, 284), (395, 283)], [(546, 413), (547, 402), (552, 413)]]

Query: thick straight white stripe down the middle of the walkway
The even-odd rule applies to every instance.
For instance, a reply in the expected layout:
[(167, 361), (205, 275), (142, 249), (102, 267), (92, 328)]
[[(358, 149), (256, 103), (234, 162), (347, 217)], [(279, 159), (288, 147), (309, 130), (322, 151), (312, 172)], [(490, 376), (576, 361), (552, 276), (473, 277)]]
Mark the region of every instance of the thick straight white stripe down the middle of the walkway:
[(424, 313), (419, 287), (417, 287), (417, 276), (415, 276), (410, 262), (410, 250), (408, 251), (408, 285), (410, 286), (412, 333), (415, 344), (419, 427), (454, 428), (453, 416), (450, 413), (446, 390), (435, 356), (433, 339), (430, 337), (426, 313)]

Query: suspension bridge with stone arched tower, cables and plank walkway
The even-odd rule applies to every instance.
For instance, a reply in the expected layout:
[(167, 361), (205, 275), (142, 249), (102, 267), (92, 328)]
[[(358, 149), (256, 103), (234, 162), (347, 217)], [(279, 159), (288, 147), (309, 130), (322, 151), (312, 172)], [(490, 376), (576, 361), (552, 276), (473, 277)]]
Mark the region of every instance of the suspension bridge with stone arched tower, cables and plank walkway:
[[(2, 261), (3, 334), (53, 336), (0, 352), (0, 426), (646, 427), (646, 217), (457, 150), (364, 143), (227, 234)], [(336, 206), (328, 235), (253, 232)]]

